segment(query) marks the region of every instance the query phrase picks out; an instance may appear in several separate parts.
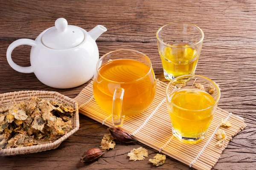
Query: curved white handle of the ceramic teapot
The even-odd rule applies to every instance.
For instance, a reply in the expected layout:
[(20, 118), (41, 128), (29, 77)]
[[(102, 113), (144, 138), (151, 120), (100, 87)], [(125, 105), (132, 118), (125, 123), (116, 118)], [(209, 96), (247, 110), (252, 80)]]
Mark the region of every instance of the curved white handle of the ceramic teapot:
[(12, 51), (14, 48), (16, 48), (19, 45), (31, 45), (31, 46), (35, 47), (37, 44), (36, 44), (35, 40), (30, 40), (30, 39), (26, 39), (26, 38), (12, 42), (12, 44), (9, 45), (7, 52), (6, 52), (7, 61), (9, 63), (9, 65), (18, 72), (33, 73), (32, 66), (22, 67), (22, 66), (15, 64), (15, 62), (12, 61), (12, 56), (11, 56)]

